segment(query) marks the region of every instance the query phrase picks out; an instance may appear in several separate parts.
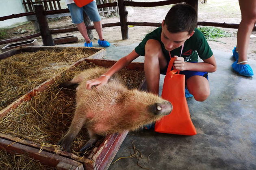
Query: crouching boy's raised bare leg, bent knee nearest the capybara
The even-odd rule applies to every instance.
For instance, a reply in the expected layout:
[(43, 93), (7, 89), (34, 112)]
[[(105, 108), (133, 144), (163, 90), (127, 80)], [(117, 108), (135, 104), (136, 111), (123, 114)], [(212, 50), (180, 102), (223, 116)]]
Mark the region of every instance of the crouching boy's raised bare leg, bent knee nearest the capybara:
[(166, 68), (167, 60), (163, 54), (161, 44), (157, 40), (148, 40), (145, 45), (144, 60), (144, 72), (148, 91), (158, 95), (160, 70)]

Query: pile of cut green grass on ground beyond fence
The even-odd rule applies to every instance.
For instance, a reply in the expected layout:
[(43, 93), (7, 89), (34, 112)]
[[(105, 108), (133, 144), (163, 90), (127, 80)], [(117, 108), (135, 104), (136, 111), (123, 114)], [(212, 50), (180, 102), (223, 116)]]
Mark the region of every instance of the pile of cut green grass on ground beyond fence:
[(198, 28), (207, 40), (215, 40), (221, 37), (230, 37), (232, 34), (216, 27), (199, 27)]

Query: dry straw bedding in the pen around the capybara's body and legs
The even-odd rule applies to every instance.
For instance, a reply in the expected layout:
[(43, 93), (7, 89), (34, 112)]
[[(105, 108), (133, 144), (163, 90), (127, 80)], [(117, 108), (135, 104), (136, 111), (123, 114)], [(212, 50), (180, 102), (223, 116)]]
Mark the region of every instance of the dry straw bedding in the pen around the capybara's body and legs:
[[(0, 132), (60, 149), (55, 144), (66, 134), (71, 124), (76, 105), (76, 91), (60, 89), (58, 85), (70, 81), (81, 70), (92, 67), (95, 65), (83, 62), (74, 71), (63, 73), (48, 90), (37, 94), (32, 100), (24, 102), (0, 119)], [(143, 81), (144, 72), (124, 69), (121, 76), (129, 88), (136, 88)], [(76, 151), (87, 140), (87, 130), (83, 127), (72, 143), (72, 153), (79, 155)]]

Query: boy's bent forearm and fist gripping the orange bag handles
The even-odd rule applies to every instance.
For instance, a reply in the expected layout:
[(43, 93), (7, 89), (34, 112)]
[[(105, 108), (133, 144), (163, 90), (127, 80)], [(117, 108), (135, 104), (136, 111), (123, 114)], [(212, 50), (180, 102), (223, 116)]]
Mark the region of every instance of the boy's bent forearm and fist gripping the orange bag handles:
[(174, 57), (177, 57), (176, 60), (174, 61), (174, 67), (180, 71), (190, 70), (200, 72), (215, 72), (217, 70), (217, 64), (214, 55), (212, 55), (208, 59), (203, 60), (204, 62), (199, 63), (184, 62), (183, 57)]

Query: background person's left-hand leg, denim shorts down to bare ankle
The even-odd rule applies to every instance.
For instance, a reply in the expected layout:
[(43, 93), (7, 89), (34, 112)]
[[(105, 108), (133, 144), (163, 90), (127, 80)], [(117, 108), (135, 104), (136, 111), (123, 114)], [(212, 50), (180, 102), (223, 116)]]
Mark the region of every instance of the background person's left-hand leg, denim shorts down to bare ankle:
[(70, 11), (70, 15), (72, 17), (72, 23), (75, 23), (80, 34), (85, 38), (86, 43), (90, 43), (91, 40), (87, 34), (87, 29), (84, 23), (84, 18), (83, 18), (83, 9), (79, 8), (76, 6), (75, 3), (68, 4), (67, 5)]

